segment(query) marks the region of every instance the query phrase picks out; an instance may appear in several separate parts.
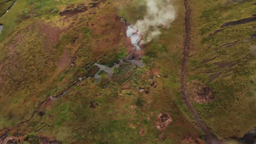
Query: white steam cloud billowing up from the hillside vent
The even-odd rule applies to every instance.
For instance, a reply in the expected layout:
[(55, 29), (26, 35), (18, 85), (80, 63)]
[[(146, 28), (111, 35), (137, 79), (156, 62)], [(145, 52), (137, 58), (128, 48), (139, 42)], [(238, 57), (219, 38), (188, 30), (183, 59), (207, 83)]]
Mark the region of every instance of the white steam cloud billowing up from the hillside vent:
[[(161, 34), (162, 26), (170, 26), (175, 19), (175, 10), (171, 0), (146, 0), (147, 13), (142, 20), (127, 28), (127, 37), (133, 39), (133, 46), (139, 50), (139, 45), (148, 43)], [(144, 37), (144, 41), (141, 40)], [(137, 43), (135, 43), (137, 41)]]

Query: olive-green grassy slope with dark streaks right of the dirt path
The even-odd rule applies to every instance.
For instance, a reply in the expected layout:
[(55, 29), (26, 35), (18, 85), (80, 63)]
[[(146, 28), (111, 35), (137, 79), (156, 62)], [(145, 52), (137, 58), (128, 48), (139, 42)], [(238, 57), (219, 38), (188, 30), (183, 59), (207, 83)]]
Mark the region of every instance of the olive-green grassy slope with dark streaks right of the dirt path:
[[(242, 137), (256, 125), (255, 24), (226, 26), (253, 17), (254, 1), (196, 1), (193, 8), (189, 79), (210, 86), (216, 97), (196, 104), (208, 127), (220, 138)], [(189, 81), (189, 82), (190, 82)]]

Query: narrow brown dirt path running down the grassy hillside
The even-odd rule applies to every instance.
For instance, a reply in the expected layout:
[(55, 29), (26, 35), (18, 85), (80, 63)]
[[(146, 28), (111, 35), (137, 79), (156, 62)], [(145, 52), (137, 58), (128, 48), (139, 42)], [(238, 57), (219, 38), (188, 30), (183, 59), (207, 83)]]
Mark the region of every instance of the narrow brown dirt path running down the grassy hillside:
[(191, 104), (188, 94), (187, 94), (187, 65), (188, 65), (188, 57), (189, 57), (189, 49), (190, 49), (190, 39), (191, 39), (191, 25), (190, 25), (190, 19), (191, 19), (191, 9), (189, 7), (188, 0), (184, 0), (184, 6), (185, 6), (185, 41), (184, 41), (184, 48), (183, 48), (183, 62), (182, 62), (182, 72), (181, 72), (181, 79), (182, 79), (182, 98), (184, 103), (188, 106), (189, 111), (194, 116), (197, 124), (205, 133), (205, 140), (206, 143), (209, 144), (217, 144), (222, 143), (221, 141), (216, 140), (215, 136), (211, 133), (211, 130), (207, 128), (206, 124), (203, 123), (201, 120), (199, 114), (195, 111), (193, 108), (193, 105)]

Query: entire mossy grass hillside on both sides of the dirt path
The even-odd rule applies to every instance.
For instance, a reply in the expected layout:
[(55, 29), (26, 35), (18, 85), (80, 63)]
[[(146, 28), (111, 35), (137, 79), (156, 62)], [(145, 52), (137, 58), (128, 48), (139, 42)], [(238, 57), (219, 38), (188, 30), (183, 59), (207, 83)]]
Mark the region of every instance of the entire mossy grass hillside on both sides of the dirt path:
[[(100, 82), (90, 78), (95, 62), (112, 67), (124, 60), (126, 27), (143, 17), (144, 4), (18, 1), (0, 20), (0, 142), (203, 143), (181, 97), (183, 1), (173, 1), (177, 16), (170, 28), (146, 44), (144, 67), (125, 63), (110, 80), (103, 71)], [(219, 139), (241, 137), (256, 119), (255, 22), (222, 25), (252, 16), (255, 4), (189, 4), (188, 85), (203, 83), (215, 98), (194, 107)], [(162, 112), (172, 122), (159, 131), (155, 122)]]

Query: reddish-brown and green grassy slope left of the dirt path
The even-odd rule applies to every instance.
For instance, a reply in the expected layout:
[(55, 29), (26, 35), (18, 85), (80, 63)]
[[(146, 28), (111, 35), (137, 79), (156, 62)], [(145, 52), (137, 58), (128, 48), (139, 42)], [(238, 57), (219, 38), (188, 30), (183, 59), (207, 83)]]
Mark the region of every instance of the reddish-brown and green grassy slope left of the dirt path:
[[(6, 25), (0, 36), (1, 135), (15, 136), (27, 143), (181, 143), (186, 137), (196, 140), (200, 132), (190, 123), (193, 120), (189, 113), (185, 114), (187, 109), (178, 96), (183, 2), (175, 3), (181, 11), (173, 26), (162, 29), (160, 39), (147, 45), (145, 67), (123, 65), (112, 80), (104, 78), (103, 73), (100, 83), (85, 79), (72, 86), (79, 77), (96, 73), (92, 66), (95, 62), (111, 67), (125, 57), (124, 19), (134, 22), (141, 18), (130, 15), (131, 10), (144, 13), (136, 7), (137, 2), (18, 1), (16, 10), (1, 20)], [(58, 15), (78, 7), (88, 10)], [(139, 92), (137, 87), (146, 91)], [(66, 89), (61, 98), (49, 100)], [(161, 133), (155, 126), (161, 112), (172, 117), (170, 126), (162, 131), (165, 141), (159, 138)]]

